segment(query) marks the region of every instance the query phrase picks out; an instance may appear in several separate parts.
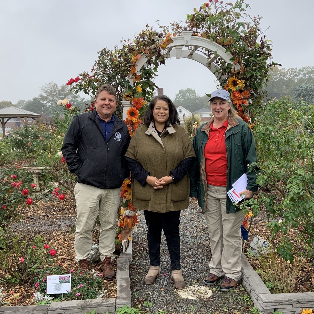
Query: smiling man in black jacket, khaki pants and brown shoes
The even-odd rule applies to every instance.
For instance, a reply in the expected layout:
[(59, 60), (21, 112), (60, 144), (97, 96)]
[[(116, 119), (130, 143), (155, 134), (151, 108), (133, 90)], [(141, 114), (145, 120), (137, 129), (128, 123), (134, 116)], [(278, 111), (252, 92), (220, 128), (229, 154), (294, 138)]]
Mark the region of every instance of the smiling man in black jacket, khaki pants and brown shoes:
[(124, 155), (131, 137), (127, 125), (113, 114), (116, 106), (114, 87), (100, 86), (96, 92), (96, 110), (73, 118), (62, 145), (68, 169), (77, 175), (75, 260), (82, 271), (89, 269), (91, 231), (99, 214), (100, 265), (106, 280), (114, 280), (116, 276), (112, 265), (116, 213), (122, 182), (129, 175)]

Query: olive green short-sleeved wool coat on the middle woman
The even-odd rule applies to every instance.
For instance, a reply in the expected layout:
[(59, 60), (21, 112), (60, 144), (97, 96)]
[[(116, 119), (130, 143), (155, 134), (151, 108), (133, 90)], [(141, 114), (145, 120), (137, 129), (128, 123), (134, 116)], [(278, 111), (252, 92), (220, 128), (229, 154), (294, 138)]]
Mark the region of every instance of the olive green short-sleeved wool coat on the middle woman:
[[(136, 129), (125, 156), (140, 163), (150, 176), (160, 179), (169, 176), (181, 160), (194, 157), (195, 153), (186, 130), (181, 126), (170, 125), (159, 137), (152, 122), (149, 127), (142, 125)], [(149, 184), (142, 186), (133, 178), (132, 205), (161, 213), (182, 210), (189, 206), (189, 190), (188, 174), (178, 183), (170, 183), (157, 190)]]

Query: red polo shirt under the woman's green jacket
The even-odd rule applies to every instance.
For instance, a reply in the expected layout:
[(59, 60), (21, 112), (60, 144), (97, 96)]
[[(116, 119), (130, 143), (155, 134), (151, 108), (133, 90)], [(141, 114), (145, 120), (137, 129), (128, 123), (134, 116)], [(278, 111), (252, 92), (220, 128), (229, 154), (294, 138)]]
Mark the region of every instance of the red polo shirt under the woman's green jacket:
[(204, 147), (205, 172), (208, 184), (227, 186), (227, 151), (225, 133), (228, 119), (220, 128), (209, 128), (208, 141)]

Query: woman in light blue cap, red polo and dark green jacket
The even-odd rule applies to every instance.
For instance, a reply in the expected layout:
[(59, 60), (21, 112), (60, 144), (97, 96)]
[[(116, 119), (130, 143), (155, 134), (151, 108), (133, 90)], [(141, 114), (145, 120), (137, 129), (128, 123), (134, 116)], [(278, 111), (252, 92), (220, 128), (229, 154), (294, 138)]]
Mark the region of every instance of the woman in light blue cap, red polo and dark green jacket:
[(193, 140), (196, 153), (190, 172), (190, 196), (198, 200), (206, 217), (212, 258), (204, 284), (225, 276), (221, 291), (234, 289), (241, 278), (241, 223), (245, 213), (227, 196), (232, 184), (247, 175), (245, 199), (257, 191), (255, 141), (249, 126), (236, 114), (230, 93), (214, 91), (209, 99), (214, 118), (200, 126)]

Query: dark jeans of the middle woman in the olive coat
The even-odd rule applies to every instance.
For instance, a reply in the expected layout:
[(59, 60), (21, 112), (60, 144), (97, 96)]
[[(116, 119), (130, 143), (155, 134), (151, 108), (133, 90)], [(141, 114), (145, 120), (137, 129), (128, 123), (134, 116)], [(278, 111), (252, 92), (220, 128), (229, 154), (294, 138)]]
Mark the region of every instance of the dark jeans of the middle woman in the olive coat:
[(179, 235), (180, 213), (181, 211), (159, 213), (144, 210), (148, 228), (147, 242), (150, 265), (160, 265), (161, 230), (164, 230), (171, 260), (171, 269), (181, 269)]

